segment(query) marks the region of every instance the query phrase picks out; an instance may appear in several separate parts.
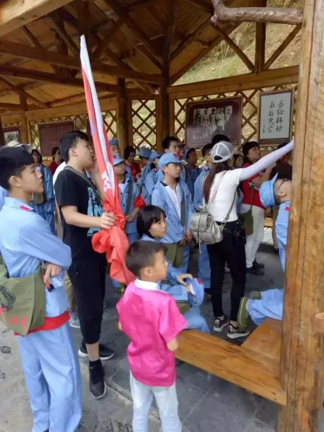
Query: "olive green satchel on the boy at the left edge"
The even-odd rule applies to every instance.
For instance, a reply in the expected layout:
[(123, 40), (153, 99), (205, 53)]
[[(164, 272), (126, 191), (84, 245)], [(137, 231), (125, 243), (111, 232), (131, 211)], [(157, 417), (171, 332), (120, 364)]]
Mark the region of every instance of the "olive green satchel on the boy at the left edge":
[(45, 284), (42, 266), (24, 278), (9, 278), (0, 256), (0, 321), (25, 336), (45, 321)]

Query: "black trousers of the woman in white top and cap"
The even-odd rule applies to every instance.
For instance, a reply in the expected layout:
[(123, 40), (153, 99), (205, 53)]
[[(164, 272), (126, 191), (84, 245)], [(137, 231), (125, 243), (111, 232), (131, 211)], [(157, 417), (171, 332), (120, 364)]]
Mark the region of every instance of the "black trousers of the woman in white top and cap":
[(225, 274), (225, 262), (232, 276), (231, 313), (230, 319), (237, 320), (239, 301), (244, 296), (246, 284), (245, 245), (235, 244), (233, 231), (238, 229), (236, 221), (227, 222), (223, 230), (223, 240), (214, 245), (207, 245), (211, 265), (211, 290), (214, 317), (224, 315), (222, 304), (222, 288)]

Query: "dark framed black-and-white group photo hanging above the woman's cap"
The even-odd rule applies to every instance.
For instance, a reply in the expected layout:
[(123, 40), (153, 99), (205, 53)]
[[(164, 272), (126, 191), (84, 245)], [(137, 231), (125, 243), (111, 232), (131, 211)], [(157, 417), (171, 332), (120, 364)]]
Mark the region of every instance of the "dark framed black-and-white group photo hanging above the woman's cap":
[(190, 101), (186, 103), (186, 145), (203, 147), (216, 134), (228, 136), (230, 142), (241, 144), (242, 96)]

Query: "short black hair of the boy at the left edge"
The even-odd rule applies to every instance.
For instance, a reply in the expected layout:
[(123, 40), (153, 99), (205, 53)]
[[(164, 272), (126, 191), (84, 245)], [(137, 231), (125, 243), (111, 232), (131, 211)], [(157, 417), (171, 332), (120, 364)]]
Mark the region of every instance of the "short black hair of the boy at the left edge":
[(0, 149), (0, 186), (9, 190), (9, 179), (20, 176), (29, 165), (34, 164), (32, 155), (22, 147), (2, 147)]

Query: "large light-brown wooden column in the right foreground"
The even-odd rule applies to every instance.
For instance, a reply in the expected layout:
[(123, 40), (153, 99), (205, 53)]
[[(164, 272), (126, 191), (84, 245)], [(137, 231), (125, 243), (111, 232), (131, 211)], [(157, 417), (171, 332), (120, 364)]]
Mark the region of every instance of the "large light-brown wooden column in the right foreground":
[(324, 343), (312, 326), (324, 311), (324, 0), (306, 0), (298, 84), (293, 200), (287, 248), (280, 432), (316, 432), (322, 412)]

